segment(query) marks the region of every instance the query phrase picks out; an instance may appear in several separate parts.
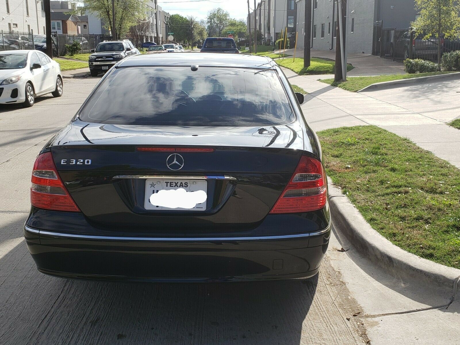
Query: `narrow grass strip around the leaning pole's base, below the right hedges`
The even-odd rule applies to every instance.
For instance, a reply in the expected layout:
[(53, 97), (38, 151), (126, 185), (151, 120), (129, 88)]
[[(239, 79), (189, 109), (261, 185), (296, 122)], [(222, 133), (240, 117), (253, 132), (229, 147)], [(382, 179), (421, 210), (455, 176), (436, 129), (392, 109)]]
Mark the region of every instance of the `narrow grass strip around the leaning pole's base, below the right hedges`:
[(428, 75), (438, 75), (438, 74), (446, 74), (446, 73), (453, 73), (453, 72), (429, 72), (429, 73), (418, 73), (418, 74), (393, 74), (393, 75), (378, 75), (378, 76), (371, 76), (371, 77), (349, 77), (347, 81), (334, 83), (334, 79), (322, 79), (323, 83), (330, 84), (332, 86), (339, 86), (340, 88), (351, 91), (357, 92), (362, 88), (369, 86), (374, 83), (380, 83), (382, 81), (393, 81), (393, 80), (400, 80), (400, 79), (410, 79), (410, 78), (419, 78), (419, 77), (426, 77)]

